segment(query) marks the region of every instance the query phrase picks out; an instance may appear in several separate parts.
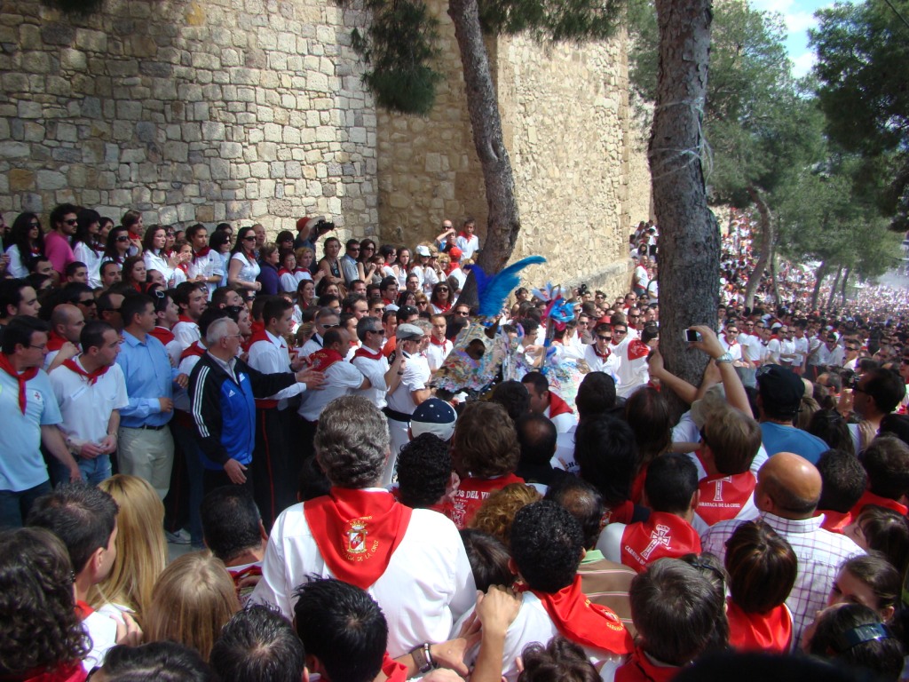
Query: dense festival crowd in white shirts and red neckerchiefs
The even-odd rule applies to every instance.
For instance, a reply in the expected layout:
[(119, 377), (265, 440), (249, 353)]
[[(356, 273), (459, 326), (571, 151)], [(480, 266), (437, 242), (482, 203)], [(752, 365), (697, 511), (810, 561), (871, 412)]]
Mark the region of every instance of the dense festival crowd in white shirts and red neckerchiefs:
[(472, 219), (344, 256), (321, 217), (49, 221), (0, 218), (4, 678), (902, 677), (901, 294), (813, 310), (784, 266), (746, 308), (735, 226), (693, 386), (642, 223), (628, 290), (516, 289), (530, 371), (457, 395)]

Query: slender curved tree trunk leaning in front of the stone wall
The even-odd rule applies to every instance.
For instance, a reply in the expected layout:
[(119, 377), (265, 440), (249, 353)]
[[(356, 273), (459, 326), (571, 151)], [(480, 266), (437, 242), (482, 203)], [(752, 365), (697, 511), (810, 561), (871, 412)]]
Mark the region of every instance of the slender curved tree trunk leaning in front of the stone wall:
[(514, 175), (502, 136), (498, 98), (476, 0), (451, 0), (448, 15), (454, 22), (454, 36), (464, 65), (467, 111), (474, 131), (476, 155), (483, 170), (486, 206), (489, 209), (486, 238), (478, 264), (486, 273), (493, 274), (508, 262), (521, 230), (521, 218), (514, 198)]

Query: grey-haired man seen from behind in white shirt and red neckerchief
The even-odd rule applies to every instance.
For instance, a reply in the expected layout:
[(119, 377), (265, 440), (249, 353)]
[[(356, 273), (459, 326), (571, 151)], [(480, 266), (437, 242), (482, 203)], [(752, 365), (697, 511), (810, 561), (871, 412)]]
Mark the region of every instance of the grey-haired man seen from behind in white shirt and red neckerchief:
[[(336, 577), (365, 589), (388, 618), (388, 653), (400, 657), (443, 642), (474, 605), (475, 586), (454, 524), (410, 509), (378, 487), (389, 453), (385, 416), (363, 396), (336, 398), (322, 412), (315, 457), (327, 496), (288, 507), (275, 521), (252, 600), (293, 617), (295, 587)], [(430, 647), (438, 660), (441, 649)], [(428, 668), (427, 668), (428, 669)]]

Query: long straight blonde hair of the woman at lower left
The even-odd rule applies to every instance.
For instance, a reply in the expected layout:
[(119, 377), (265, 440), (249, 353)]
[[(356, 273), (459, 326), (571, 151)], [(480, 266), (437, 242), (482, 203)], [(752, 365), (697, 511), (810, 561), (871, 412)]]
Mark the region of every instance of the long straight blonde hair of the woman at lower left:
[(145, 479), (117, 474), (98, 486), (120, 507), (116, 517), (116, 560), (110, 575), (89, 592), (92, 607), (120, 604), (140, 624), (152, 602), (155, 581), (167, 565), (165, 506)]

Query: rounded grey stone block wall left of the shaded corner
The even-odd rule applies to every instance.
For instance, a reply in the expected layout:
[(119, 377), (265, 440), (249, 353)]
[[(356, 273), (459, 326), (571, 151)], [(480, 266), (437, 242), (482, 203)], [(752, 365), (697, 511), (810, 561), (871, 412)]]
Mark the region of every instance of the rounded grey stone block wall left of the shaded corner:
[(317, 0), (2, 3), (0, 210), (126, 208), (145, 223), (378, 220), (365, 15)]

